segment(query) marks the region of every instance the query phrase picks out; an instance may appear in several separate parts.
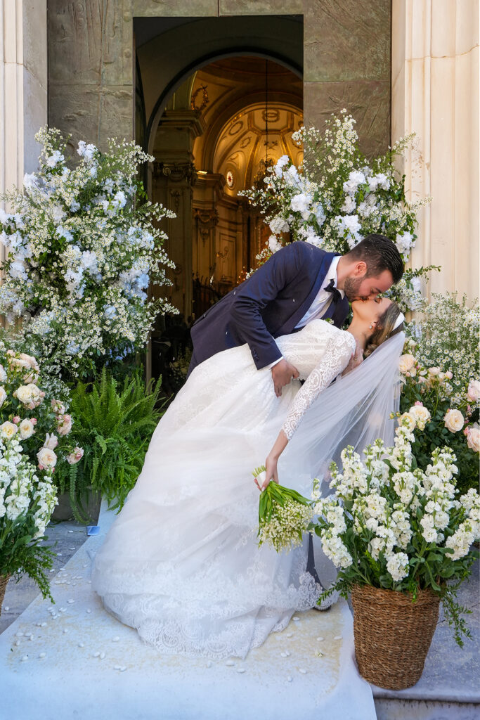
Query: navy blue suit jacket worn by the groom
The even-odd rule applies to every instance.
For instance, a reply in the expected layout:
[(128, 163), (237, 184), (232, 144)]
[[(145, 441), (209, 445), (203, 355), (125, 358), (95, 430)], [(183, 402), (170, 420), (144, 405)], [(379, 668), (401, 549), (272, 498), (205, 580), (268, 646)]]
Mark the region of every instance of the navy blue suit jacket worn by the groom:
[[(257, 369), (281, 357), (275, 339), (294, 331), (322, 286), (335, 253), (303, 240), (290, 243), (245, 282), (209, 307), (191, 328), (194, 367), (212, 355), (248, 343)], [(348, 315), (346, 297), (331, 302), (324, 318), (340, 327)]]

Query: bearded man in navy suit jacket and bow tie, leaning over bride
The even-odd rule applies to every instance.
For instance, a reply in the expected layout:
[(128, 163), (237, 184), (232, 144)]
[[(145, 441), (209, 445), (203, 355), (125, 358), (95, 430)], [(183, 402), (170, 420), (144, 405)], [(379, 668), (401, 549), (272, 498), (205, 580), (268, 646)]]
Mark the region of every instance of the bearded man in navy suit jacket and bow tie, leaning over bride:
[[(212, 355), (248, 343), (257, 369), (271, 368), (279, 397), (298, 371), (282, 357), (275, 338), (316, 318), (331, 318), (341, 327), (349, 300), (376, 298), (399, 282), (403, 271), (397, 247), (384, 235), (367, 235), (342, 256), (302, 240), (290, 243), (192, 325), (189, 374)], [(359, 362), (356, 351), (348, 368)]]

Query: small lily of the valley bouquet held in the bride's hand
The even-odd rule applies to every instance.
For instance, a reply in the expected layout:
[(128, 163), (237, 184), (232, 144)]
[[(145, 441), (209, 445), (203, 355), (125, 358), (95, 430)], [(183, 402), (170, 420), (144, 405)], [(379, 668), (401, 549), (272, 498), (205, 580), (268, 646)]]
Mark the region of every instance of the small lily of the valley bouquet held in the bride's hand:
[[(262, 487), (266, 467), (255, 468), (253, 477)], [(267, 543), (280, 552), (302, 544), (303, 534), (312, 521), (312, 500), (296, 490), (269, 482), (258, 504), (258, 545)]]

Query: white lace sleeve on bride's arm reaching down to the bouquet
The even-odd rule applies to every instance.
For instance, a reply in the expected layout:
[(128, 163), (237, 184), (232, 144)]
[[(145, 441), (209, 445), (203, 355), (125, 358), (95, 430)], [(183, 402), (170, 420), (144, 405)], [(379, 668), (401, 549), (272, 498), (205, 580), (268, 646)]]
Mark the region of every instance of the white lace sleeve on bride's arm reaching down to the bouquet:
[(348, 365), (353, 351), (355, 351), (355, 340), (350, 333), (338, 333), (330, 340), (320, 363), (309, 374), (291, 403), (289, 414), (281, 428), (288, 440), (293, 436), (312, 402)]

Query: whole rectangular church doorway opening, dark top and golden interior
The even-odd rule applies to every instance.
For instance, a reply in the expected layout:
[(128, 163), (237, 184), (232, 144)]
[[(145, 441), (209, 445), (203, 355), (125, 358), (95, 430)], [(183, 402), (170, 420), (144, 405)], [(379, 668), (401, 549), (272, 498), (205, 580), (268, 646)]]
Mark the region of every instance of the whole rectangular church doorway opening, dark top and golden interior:
[[(228, 27), (233, 32), (231, 20)], [(250, 20), (242, 19), (243, 24)], [(295, 27), (301, 56), (302, 23), (278, 20), (281, 35)], [(263, 27), (266, 30), (268, 24), (263, 22)], [(247, 27), (240, 30), (245, 40)], [(163, 354), (170, 362), (184, 354), (189, 325), (242, 282), (268, 242), (263, 217), (238, 193), (262, 184), (266, 169), (282, 155), (302, 161), (301, 149), (291, 140), (303, 124), (302, 68), (298, 58), (281, 54), (281, 35), (272, 38), (271, 30), (269, 35), (263, 48), (257, 37), (256, 47), (230, 43), (230, 52), (224, 47), (191, 60), (194, 68), (178, 71), (169, 89), (157, 83), (155, 103), (146, 61), (152, 59), (155, 38), (146, 43), (148, 53), (142, 55), (143, 45), (138, 50), (135, 135), (155, 157), (146, 178), (148, 194), (176, 212), (164, 229), (168, 256), (176, 264), (170, 300), (180, 315), (158, 318), (153, 376), (165, 375), (168, 369), (160, 360), (155, 367), (155, 358)]]

